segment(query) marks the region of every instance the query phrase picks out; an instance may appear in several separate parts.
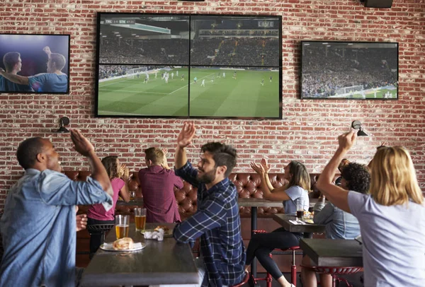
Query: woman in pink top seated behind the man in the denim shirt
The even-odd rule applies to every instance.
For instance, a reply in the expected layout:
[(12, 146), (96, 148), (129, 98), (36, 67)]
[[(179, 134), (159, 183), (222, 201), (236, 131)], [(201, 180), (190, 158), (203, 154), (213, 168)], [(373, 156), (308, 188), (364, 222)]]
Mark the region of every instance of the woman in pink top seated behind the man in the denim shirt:
[[(130, 201), (130, 194), (128, 192), (128, 176), (130, 172), (125, 165), (120, 164), (118, 156), (107, 156), (102, 160), (103, 165), (108, 172), (109, 179), (113, 189), (113, 208), (106, 211), (102, 204), (94, 204), (90, 206), (87, 211), (87, 225), (94, 224), (114, 224), (115, 205), (118, 201), (118, 195), (123, 197), (125, 202)], [(90, 257), (98, 250), (101, 245), (101, 233), (92, 233), (90, 236)]]

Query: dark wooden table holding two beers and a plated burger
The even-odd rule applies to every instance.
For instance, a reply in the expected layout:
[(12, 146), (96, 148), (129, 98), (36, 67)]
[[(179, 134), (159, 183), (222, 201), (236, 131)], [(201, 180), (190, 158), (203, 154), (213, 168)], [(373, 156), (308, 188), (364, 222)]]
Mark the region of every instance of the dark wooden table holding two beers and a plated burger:
[[(174, 223), (147, 223), (147, 228), (157, 225), (174, 227)], [(113, 242), (115, 228), (106, 237)], [(159, 284), (198, 283), (198, 269), (191, 247), (174, 238), (164, 241), (145, 240), (130, 224), (129, 237), (135, 242), (145, 242), (146, 247), (136, 252), (111, 252), (99, 249), (84, 270), (82, 286), (137, 286)]]

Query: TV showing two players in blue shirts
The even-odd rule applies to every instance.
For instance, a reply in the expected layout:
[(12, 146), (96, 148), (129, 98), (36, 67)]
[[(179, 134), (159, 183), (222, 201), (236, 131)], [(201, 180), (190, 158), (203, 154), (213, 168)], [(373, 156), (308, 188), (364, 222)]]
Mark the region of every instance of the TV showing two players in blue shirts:
[(69, 93), (69, 35), (0, 34), (0, 93)]

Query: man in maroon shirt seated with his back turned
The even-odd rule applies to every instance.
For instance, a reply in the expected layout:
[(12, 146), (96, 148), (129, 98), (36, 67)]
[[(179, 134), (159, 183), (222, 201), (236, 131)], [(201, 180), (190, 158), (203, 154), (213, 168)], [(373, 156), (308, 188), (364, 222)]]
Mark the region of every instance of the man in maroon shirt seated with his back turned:
[(139, 182), (147, 209), (146, 222), (181, 221), (174, 187), (183, 188), (183, 181), (170, 170), (166, 163), (166, 153), (159, 148), (147, 148), (145, 163), (147, 168), (139, 171)]

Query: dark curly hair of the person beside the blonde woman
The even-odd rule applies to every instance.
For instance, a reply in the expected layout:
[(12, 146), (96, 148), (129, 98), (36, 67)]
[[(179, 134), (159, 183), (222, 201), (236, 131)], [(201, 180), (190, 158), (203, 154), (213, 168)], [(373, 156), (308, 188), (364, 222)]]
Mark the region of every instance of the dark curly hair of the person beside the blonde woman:
[(370, 172), (366, 165), (348, 163), (342, 171), (341, 177), (347, 182), (348, 190), (368, 193), (370, 187)]

